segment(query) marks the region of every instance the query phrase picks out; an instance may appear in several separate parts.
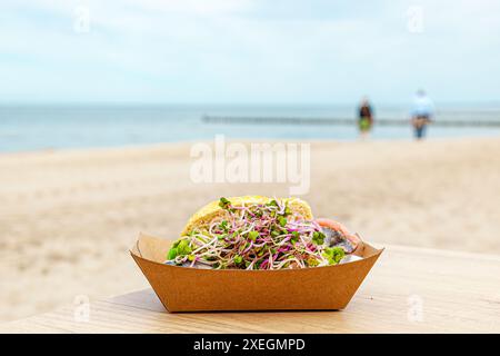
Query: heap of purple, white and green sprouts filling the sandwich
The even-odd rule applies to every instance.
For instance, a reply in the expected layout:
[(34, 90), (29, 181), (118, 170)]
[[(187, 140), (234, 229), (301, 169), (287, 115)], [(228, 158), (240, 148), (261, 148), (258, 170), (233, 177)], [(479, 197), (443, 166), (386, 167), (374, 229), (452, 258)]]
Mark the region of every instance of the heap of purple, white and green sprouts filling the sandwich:
[(236, 207), (221, 198), (219, 205), (222, 216), (178, 239), (167, 264), (283, 269), (334, 265), (343, 257), (343, 249), (323, 244), (320, 225), (292, 211), (286, 200)]

